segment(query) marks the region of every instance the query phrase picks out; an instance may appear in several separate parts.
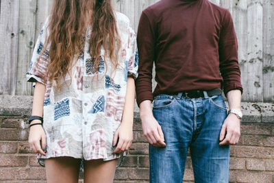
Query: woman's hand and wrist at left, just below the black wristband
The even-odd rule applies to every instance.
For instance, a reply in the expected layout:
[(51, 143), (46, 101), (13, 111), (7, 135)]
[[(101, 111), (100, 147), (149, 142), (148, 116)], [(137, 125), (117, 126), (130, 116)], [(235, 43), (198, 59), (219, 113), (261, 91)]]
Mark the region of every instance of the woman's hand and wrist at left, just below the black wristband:
[[(39, 120), (34, 120), (32, 123), (41, 123)], [(29, 147), (34, 153), (46, 155), (46, 135), (42, 125), (33, 125), (29, 130)]]

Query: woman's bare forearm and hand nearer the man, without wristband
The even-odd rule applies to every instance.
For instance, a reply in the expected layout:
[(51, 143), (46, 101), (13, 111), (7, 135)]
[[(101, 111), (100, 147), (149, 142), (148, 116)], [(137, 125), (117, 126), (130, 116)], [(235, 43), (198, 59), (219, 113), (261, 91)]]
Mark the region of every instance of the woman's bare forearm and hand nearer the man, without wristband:
[[(125, 95), (125, 106), (123, 109), (123, 118), (121, 125), (116, 130), (113, 138), (113, 146), (117, 145), (114, 153), (127, 151), (132, 145), (133, 139), (133, 120), (134, 120), (134, 99), (135, 99), (135, 84), (133, 77), (127, 77), (127, 92)], [(119, 141), (118, 141), (119, 139)], [(117, 142), (118, 141), (118, 142)], [(118, 144), (117, 144), (118, 143)]]

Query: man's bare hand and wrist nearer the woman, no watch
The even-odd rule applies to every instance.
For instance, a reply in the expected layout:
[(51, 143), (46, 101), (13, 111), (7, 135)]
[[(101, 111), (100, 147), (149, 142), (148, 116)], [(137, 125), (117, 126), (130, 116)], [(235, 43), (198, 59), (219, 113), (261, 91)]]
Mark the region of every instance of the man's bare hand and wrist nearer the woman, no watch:
[(151, 112), (151, 101), (142, 101), (140, 103), (140, 119), (142, 121), (142, 132), (147, 141), (155, 147), (165, 147), (164, 133), (158, 121)]

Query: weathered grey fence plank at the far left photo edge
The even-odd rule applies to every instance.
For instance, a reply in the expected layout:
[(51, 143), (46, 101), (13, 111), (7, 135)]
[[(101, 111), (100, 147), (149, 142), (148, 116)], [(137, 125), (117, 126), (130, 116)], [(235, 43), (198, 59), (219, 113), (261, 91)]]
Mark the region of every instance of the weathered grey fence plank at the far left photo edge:
[(0, 95), (14, 95), (18, 49), (19, 1), (1, 1)]

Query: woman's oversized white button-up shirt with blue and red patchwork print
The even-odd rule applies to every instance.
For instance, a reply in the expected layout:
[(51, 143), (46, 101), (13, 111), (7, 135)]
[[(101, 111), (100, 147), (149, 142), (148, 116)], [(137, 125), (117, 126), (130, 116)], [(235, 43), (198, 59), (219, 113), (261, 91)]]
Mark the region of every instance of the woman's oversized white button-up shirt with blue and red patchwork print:
[(28, 82), (46, 86), (43, 128), (47, 136), (47, 155), (40, 158), (73, 156), (85, 160), (111, 160), (121, 156), (113, 154), (112, 138), (122, 119), (127, 77), (138, 75), (138, 51), (136, 34), (129, 19), (119, 12), (115, 14), (121, 39), (116, 71), (112, 69), (110, 58), (104, 58), (103, 47), (95, 71), (89, 53), (91, 31), (88, 29), (82, 54), (71, 60), (75, 64), (60, 81), (62, 90), (58, 90), (54, 81), (42, 80), (50, 62), (50, 45), (39, 62), (38, 58), (49, 35), (49, 18), (43, 25), (27, 71)]

